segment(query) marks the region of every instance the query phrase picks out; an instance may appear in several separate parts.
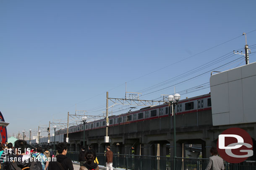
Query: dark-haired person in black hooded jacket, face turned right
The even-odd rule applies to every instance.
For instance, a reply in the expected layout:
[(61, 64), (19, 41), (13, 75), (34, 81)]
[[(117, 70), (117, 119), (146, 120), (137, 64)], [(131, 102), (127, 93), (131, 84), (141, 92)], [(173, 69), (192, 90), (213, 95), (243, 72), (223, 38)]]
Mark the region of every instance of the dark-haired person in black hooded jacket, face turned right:
[(56, 156), (57, 161), (51, 161), (48, 170), (74, 170), (73, 163), (69, 157), (66, 157), (68, 152), (67, 144), (61, 142), (57, 145), (59, 155)]

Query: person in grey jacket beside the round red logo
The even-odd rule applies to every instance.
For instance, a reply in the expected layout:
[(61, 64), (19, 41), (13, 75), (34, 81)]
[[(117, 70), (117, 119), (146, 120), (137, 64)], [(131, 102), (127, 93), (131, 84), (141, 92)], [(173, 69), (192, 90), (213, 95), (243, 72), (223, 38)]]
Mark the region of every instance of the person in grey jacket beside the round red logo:
[(209, 157), (208, 165), (205, 170), (224, 170), (223, 159), (218, 156), (218, 150), (216, 147), (211, 147), (210, 149), (211, 157)]

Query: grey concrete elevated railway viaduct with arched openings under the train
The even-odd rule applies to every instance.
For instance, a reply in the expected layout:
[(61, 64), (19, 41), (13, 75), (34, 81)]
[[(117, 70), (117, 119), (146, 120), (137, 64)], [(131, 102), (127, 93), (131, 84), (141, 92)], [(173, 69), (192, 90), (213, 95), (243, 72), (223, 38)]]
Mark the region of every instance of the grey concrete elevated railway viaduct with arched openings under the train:
[[(253, 150), (256, 153), (256, 142), (254, 140), (256, 137), (256, 123), (213, 126), (212, 111), (205, 110), (176, 115), (177, 156), (185, 156), (185, 144), (199, 144), (201, 145), (202, 157), (208, 158), (211, 156), (210, 147), (217, 145), (218, 135), (230, 127), (245, 129), (253, 139)], [(105, 128), (85, 131), (86, 146), (93, 145), (94, 150), (104, 153), (107, 145), (104, 143), (105, 134)], [(56, 135), (56, 138), (58, 136)], [(172, 157), (173, 155), (172, 116), (112, 126), (109, 127), (109, 136), (110, 143), (108, 145), (111, 146), (114, 153), (157, 155), (157, 146), (159, 146), (160, 156), (171, 155)], [(66, 134), (63, 135), (64, 139), (65, 137)], [(68, 137), (69, 150), (79, 151), (83, 145), (84, 132), (71, 133)], [(51, 137), (50, 145), (53, 146), (52, 139)], [(40, 145), (47, 147), (47, 140), (42, 139), (41, 141)], [(255, 156), (251, 157), (253, 160), (255, 158)]]

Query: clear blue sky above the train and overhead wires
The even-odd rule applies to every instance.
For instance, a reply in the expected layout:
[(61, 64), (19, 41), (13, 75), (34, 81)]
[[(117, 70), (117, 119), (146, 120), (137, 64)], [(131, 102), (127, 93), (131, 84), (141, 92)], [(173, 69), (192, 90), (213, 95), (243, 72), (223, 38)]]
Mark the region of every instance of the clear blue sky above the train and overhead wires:
[[(36, 129), (52, 119), (65, 120), (67, 112), (76, 109), (102, 114), (106, 91), (110, 97), (123, 98), (125, 82), (127, 91), (141, 91), (232, 54), (244, 47), (243, 32), (248, 33), (249, 46), (256, 44), (256, 31), (249, 33), (256, 30), (255, 7), (255, 0), (1, 0), (0, 111), (10, 123), (8, 133)], [(173, 86), (147, 93), (238, 57), (145, 91), (141, 99), (172, 94)], [(256, 55), (251, 55), (250, 62), (254, 61)], [(218, 71), (244, 63), (230, 63)], [(208, 73), (177, 84), (176, 91), (209, 82), (209, 77)]]

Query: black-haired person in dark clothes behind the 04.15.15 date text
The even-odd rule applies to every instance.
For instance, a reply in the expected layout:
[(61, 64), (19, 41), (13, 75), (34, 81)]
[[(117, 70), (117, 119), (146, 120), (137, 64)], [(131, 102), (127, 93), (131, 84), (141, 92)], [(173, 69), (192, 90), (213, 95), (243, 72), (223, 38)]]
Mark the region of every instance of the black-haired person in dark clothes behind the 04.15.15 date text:
[(30, 159), (31, 155), (26, 155), (27, 142), (25, 140), (16, 140), (14, 142), (16, 160), (10, 161), (7, 170), (42, 170), (42, 165), (39, 161)]

